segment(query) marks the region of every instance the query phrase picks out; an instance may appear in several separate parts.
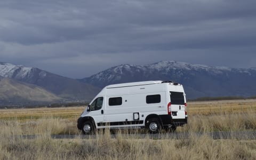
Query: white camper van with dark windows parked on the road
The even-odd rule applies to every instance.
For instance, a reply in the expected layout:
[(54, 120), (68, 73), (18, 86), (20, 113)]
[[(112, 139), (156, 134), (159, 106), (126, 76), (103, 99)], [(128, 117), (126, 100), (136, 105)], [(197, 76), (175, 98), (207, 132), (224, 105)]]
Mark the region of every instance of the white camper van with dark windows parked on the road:
[(183, 86), (171, 81), (146, 81), (104, 87), (77, 120), (84, 134), (95, 129), (145, 128), (150, 133), (175, 130), (187, 123)]

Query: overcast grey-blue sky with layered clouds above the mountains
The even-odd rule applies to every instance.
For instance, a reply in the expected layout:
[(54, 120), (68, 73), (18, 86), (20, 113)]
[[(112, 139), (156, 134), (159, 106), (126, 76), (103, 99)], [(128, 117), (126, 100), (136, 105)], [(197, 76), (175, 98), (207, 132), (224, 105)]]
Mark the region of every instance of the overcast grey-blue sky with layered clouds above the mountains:
[(176, 60), (256, 67), (255, 0), (0, 1), (0, 61), (84, 78)]

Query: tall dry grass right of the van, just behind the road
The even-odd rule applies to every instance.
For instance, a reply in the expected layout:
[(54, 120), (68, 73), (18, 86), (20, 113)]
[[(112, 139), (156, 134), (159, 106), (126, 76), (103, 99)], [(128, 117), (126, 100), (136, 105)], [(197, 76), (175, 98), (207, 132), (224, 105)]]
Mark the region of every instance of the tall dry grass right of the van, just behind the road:
[(256, 113), (252, 110), (234, 114), (195, 115), (188, 118), (188, 124), (178, 127), (178, 132), (256, 130)]

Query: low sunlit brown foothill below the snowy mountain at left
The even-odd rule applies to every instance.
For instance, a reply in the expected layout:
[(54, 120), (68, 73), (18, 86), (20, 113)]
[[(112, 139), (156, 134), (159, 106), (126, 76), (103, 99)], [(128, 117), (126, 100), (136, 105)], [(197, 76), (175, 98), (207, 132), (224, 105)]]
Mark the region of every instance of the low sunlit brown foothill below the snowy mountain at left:
[[(42, 87), (18, 82), (10, 78), (0, 76), (0, 103), (9, 102), (55, 102), (61, 98)], [(0, 104), (1, 106), (2, 104)]]

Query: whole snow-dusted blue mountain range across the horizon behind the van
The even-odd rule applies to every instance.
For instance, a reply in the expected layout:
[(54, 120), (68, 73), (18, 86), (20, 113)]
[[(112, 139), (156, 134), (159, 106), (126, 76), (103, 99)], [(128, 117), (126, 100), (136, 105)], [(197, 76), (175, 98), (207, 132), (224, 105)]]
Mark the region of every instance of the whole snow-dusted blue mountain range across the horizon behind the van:
[[(0, 81), (4, 78), (9, 79), (9, 82), (12, 80), (12, 84), (25, 85), (26, 89), (27, 87), (31, 89), (39, 87), (45, 90), (42, 91), (42, 97), (47, 92), (47, 95), (55, 96), (56, 100), (65, 101), (90, 101), (100, 91), (100, 88), (110, 84), (155, 80), (181, 83), (189, 99), (256, 95), (255, 67), (247, 69), (214, 67), (178, 61), (160, 61), (149, 65), (123, 64), (83, 79), (72, 79), (39, 68), (0, 62)], [(6, 79), (5, 81), (7, 82)], [(13, 94), (17, 92), (15, 90)], [(9, 93), (12, 97), (11, 92)]]

